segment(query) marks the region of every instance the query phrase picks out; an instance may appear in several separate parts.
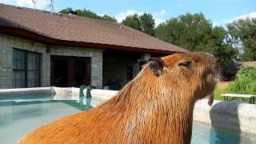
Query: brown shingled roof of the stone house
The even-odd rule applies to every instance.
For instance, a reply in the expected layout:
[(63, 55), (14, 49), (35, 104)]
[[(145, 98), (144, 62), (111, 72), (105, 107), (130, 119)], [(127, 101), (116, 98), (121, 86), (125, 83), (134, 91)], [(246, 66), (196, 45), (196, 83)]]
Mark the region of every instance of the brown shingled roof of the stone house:
[(0, 33), (38, 42), (168, 54), (187, 52), (117, 22), (0, 4)]

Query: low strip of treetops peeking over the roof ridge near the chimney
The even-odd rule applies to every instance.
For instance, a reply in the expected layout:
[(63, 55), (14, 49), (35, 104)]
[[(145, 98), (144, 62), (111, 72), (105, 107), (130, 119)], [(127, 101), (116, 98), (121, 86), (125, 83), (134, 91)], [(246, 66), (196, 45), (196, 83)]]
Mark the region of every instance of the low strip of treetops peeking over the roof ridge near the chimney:
[(98, 15), (90, 10), (86, 10), (86, 9), (73, 10), (72, 8), (68, 7), (66, 9), (60, 10), (59, 13), (69, 14), (70, 11), (77, 12), (78, 16), (80, 16), (80, 17), (100, 19), (100, 20), (109, 21), (109, 22), (117, 22), (117, 20), (114, 17), (110, 17), (109, 15), (106, 15), (106, 14), (103, 16), (100, 16), (100, 15)]

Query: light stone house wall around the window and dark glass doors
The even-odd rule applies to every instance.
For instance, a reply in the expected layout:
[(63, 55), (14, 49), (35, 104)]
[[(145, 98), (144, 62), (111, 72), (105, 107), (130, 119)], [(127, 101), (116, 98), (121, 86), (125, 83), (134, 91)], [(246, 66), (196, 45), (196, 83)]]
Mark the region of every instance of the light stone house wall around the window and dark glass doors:
[[(61, 55), (91, 58), (91, 84), (99, 89), (102, 88), (102, 50), (73, 46), (52, 46), (0, 34), (0, 89), (12, 88), (13, 48), (41, 54), (41, 86), (50, 86), (50, 55)], [(46, 50), (50, 51), (46, 52)]]

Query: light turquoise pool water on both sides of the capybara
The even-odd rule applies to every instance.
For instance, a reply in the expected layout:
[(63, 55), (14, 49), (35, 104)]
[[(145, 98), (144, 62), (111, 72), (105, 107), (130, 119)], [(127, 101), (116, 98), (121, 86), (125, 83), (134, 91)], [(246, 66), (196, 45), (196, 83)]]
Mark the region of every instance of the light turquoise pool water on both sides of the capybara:
[[(0, 143), (9, 144), (22, 136), (57, 118), (75, 114), (96, 106), (100, 102), (90, 99), (59, 99), (44, 94), (26, 94), (16, 98), (1, 96), (0, 99)], [(210, 124), (193, 124), (193, 144), (200, 143), (256, 143), (253, 134), (237, 134), (227, 130), (215, 129)]]

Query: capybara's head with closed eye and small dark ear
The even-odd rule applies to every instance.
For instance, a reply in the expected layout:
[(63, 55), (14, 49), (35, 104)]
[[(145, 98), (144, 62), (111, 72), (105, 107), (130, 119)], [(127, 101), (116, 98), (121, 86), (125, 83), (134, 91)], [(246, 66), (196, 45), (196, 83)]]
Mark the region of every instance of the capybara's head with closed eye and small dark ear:
[(218, 82), (217, 59), (202, 52), (151, 58), (145, 69), (159, 81), (161, 89), (171, 90), (171, 97), (175, 93), (181, 98), (198, 100), (212, 94)]

